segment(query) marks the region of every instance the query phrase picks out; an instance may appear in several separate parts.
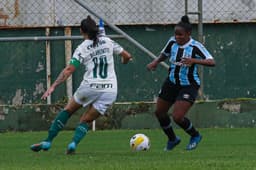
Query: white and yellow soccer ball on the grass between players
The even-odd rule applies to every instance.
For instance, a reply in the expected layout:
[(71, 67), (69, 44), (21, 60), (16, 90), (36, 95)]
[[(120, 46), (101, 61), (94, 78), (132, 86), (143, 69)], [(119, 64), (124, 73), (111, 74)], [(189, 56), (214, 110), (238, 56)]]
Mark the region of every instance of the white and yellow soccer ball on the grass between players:
[(150, 148), (149, 138), (141, 133), (135, 134), (130, 139), (130, 147), (133, 151), (146, 151)]

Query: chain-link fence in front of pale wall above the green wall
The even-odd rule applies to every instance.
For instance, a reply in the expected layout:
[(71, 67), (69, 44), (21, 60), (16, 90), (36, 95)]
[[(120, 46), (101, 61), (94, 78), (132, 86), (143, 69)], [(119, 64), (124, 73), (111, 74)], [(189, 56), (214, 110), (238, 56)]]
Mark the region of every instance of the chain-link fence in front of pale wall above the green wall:
[[(172, 24), (184, 15), (186, 0), (84, 0), (116, 25)], [(187, 0), (198, 11), (198, 0)], [(1, 0), (1, 27), (76, 26), (89, 13), (73, 0)], [(255, 22), (256, 0), (203, 0), (203, 22)], [(191, 20), (197, 22), (197, 17)]]

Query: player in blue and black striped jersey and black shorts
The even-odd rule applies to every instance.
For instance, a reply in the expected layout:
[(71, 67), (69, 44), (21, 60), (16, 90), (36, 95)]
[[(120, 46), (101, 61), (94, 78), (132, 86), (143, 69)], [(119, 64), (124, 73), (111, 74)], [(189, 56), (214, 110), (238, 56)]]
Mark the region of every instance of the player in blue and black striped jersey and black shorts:
[(174, 36), (167, 42), (160, 56), (149, 63), (147, 68), (155, 70), (160, 62), (167, 58), (170, 61), (169, 76), (159, 92), (155, 110), (160, 126), (168, 137), (165, 150), (172, 150), (181, 141), (175, 135), (168, 116), (172, 105), (172, 118), (190, 135), (186, 149), (192, 150), (197, 147), (202, 135), (185, 115), (196, 100), (200, 87), (198, 65), (215, 66), (215, 61), (207, 49), (191, 37), (192, 25), (188, 16), (181, 18), (174, 31)]

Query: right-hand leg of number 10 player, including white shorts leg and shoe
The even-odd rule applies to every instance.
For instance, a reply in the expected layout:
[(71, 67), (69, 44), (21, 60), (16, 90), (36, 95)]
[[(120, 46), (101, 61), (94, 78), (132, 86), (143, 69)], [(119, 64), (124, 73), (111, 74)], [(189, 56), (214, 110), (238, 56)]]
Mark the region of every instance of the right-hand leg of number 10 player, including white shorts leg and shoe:
[[(79, 142), (89, 130), (89, 124), (99, 116), (104, 115), (109, 106), (116, 100), (116, 92), (103, 92), (90, 104), (89, 109), (81, 116), (80, 123), (75, 129), (71, 143), (68, 145), (67, 154), (73, 154)], [(84, 105), (85, 107), (85, 105)]]

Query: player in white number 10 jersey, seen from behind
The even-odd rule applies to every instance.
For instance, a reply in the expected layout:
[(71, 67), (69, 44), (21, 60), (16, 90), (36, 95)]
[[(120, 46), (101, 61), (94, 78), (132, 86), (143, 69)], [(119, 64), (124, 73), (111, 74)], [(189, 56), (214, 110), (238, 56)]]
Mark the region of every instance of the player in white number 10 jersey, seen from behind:
[(119, 44), (106, 36), (99, 36), (98, 27), (90, 16), (81, 21), (80, 30), (84, 41), (76, 48), (70, 64), (62, 70), (55, 82), (43, 94), (42, 99), (51, 95), (55, 88), (65, 82), (79, 65), (85, 66), (83, 80), (68, 104), (51, 124), (48, 137), (30, 146), (35, 152), (49, 150), (53, 139), (63, 129), (70, 116), (81, 107), (88, 107), (81, 116), (73, 139), (67, 147), (67, 154), (75, 153), (78, 143), (89, 130), (88, 125), (104, 115), (108, 107), (116, 100), (117, 80), (113, 54), (120, 55), (123, 64), (127, 64), (132, 58)]

